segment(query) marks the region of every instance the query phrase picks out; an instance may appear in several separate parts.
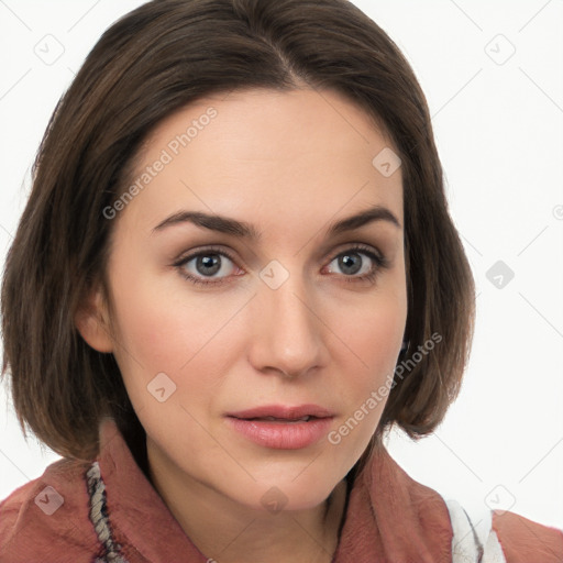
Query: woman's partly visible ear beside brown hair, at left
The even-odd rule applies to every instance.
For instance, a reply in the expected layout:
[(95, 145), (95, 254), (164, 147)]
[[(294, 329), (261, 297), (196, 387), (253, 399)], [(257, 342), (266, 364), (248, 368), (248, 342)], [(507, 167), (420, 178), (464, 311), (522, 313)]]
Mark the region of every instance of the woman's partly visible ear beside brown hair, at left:
[(100, 288), (95, 288), (80, 305), (75, 314), (75, 325), (93, 350), (102, 353), (113, 352), (108, 308)]

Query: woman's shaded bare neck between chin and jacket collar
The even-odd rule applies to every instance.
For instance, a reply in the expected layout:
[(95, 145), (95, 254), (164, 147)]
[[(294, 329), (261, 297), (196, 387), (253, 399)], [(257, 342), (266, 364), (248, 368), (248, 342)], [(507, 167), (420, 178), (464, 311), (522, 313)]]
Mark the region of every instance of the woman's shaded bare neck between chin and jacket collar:
[(191, 542), (210, 561), (332, 561), (346, 506), (345, 479), (319, 506), (273, 514), (241, 506), (185, 474), (159, 471), (162, 464), (151, 451), (148, 461), (153, 486)]

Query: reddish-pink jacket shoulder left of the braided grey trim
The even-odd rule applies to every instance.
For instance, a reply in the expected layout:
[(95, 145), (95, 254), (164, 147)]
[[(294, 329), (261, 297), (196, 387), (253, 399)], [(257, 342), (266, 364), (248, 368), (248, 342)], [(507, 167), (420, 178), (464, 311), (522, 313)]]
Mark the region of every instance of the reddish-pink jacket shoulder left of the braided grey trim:
[(100, 544), (89, 519), (88, 466), (58, 460), (0, 501), (0, 563), (93, 560)]

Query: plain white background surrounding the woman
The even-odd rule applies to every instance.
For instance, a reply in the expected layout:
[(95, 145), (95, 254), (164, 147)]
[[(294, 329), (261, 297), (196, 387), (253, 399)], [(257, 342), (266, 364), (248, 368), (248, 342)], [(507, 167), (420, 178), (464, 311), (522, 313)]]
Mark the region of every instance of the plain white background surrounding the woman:
[[(0, 0), (2, 265), (56, 101), (101, 32), (141, 3)], [(354, 3), (402, 49), (427, 95), (478, 295), (460, 398), (434, 435), (394, 433), (389, 451), (468, 507), (563, 529), (563, 1)], [(59, 52), (53, 64), (38, 56)], [(486, 276), (497, 261), (515, 273), (501, 288)], [(56, 459), (24, 441), (0, 387), (0, 499)]]

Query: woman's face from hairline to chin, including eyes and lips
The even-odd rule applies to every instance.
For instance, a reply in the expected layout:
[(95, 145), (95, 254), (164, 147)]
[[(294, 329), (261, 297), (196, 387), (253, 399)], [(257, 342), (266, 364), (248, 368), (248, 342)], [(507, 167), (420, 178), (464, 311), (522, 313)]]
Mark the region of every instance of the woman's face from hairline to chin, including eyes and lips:
[(106, 350), (154, 466), (250, 508), (305, 509), (358, 460), (407, 316), (390, 151), (331, 91), (207, 98), (151, 135), (103, 220)]

